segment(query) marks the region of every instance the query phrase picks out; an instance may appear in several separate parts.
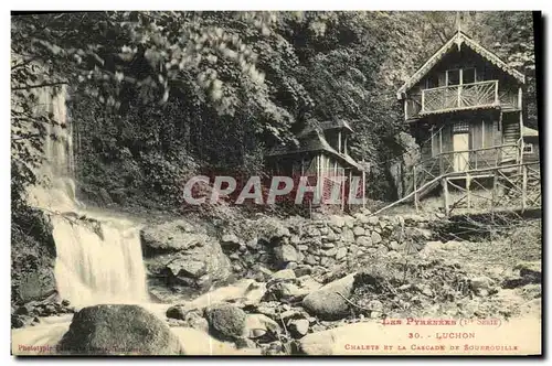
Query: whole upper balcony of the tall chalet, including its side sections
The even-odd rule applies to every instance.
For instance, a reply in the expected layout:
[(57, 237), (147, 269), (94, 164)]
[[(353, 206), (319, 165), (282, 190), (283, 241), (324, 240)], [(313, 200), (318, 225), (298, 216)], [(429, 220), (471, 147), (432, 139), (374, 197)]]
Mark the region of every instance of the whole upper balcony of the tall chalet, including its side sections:
[(406, 105), (407, 118), (456, 110), (501, 107), (518, 109), (518, 92), (499, 86), (498, 80), (440, 86), (412, 95)]

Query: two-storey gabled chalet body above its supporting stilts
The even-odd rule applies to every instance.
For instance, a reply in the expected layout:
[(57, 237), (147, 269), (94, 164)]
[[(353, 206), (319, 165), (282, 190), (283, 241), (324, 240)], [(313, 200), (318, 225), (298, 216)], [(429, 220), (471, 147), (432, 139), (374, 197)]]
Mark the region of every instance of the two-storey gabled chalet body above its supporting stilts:
[(458, 31), (399, 89), (432, 174), (518, 162), (524, 76)]

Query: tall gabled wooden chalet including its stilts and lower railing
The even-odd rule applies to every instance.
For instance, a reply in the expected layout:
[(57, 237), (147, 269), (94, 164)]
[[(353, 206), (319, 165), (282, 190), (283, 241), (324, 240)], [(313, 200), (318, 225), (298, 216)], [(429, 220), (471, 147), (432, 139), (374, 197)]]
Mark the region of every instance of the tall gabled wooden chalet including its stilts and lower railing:
[[(523, 190), (538, 163), (524, 163), (524, 83), (523, 74), (461, 31), (404, 83), (396, 96), (421, 161), (403, 182), (416, 207), (438, 186), (446, 214), (471, 208), (475, 189), (489, 192), (490, 207), (519, 189), (528, 206)], [(463, 194), (455, 201), (450, 190)]]

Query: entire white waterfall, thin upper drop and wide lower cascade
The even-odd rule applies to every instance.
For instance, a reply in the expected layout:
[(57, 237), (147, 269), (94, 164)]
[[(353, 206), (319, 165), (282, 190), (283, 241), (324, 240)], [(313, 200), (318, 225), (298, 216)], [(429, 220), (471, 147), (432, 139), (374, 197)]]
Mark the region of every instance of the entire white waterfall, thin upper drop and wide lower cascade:
[(65, 89), (39, 92), (36, 112), (52, 114), (59, 123), (47, 127), (44, 141), (45, 160), (39, 176), (46, 184), (29, 191), (31, 204), (53, 213), (57, 291), (77, 305), (145, 302), (148, 294), (139, 227), (91, 212), (76, 200), (66, 95)]

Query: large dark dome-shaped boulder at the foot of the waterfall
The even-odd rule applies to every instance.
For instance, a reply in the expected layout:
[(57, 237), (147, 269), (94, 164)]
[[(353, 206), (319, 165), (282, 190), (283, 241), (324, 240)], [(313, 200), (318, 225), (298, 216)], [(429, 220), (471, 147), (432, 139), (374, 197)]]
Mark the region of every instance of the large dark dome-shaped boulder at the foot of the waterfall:
[(184, 349), (169, 326), (138, 305), (82, 309), (59, 344), (74, 355), (180, 355)]

